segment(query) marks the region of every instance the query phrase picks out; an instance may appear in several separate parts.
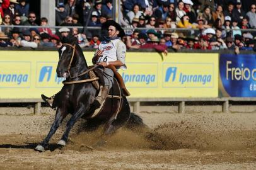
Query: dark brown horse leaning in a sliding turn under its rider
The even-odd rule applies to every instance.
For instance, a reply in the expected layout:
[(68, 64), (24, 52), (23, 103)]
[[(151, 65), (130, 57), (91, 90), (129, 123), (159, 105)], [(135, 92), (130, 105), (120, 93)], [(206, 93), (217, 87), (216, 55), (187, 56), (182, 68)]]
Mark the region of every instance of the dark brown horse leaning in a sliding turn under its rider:
[(83, 51), (76, 44), (76, 39), (70, 38), (69, 42), (64, 43), (59, 48), (59, 62), (56, 71), (58, 77), (66, 77), (66, 82), (71, 82), (71, 84), (64, 84), (61, 91), (55, 95), (54, 105), (57, 110), (54, 123), (47, 137), (37, 145), (35, 150), (40, 152), (45, 150), (52, 135), (54, 135), (62, 120), (69, 113), (72, 116), (67, 122), (66, 131), (57, 143), (61, 147), (66, 145), (69, 132), (79, 118), (86, 119), (88, 128), (95, 128), (105, 123), (102, 140), (99, 140), (98, 144), (102, 144), (105, 141), (103, 140), (104, 137), (112, 134), (125, 124), (129, 125), (129, 127), (132, 125), (144, 125), (139, 116), (131, 113), (129, 103), (122, 91), (120, 91), (116, 81), (114, 81), (113, 87), (110, 89), (110, 94), (119, 95), (119, 92), (121, 92), (120, 99), (107, 98), (102, 111), (98, 115), (92, 116), (95, 110), (93, 101), (95, 96), (98, 95), (98, 91), (91, 81), (79, 82), (90, 79), (90, 76), (87, 73), (88, 65)]

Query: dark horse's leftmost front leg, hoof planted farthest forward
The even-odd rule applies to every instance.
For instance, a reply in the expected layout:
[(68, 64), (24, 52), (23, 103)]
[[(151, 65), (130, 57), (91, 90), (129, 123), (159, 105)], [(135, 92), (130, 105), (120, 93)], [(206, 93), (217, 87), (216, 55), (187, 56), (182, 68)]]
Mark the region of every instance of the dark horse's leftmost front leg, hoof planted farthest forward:
[(52, 123), (52, 127), (50, 128), (50, 131), (45, 137), (45, 139), (37, 145), (35, 150), (39, 152), (44, 152), (45, 151), (45, 146), (49, 144), (50, 139), (52, 138), (52, 135), (56, 132), (57, 128), (61, 125), (62, 120), (67, 116), (67, 111), (61, 108), (57, 108), (56, 115), (55, 115), (55, 120), (54, 123)]

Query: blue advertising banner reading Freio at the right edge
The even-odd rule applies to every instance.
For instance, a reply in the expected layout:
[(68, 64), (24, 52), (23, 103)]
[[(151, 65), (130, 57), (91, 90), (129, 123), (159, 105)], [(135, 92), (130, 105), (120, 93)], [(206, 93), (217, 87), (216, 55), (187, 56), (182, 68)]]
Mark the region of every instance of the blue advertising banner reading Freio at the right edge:
[(256, 97), (255, 54), (221, 54), (219, 75), (220, 96)]

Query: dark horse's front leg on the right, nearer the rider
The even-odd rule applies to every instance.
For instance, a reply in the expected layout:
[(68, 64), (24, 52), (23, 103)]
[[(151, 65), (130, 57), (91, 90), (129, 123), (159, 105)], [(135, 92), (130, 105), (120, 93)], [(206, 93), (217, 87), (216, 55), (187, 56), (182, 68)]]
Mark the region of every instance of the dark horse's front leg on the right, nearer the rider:
[(78, 109), (78, 111), (76, 111), (71, 116), (71, 118), (67, 122), (67, 127), (66, 127), (66, 130), (65, 130), (64, 134), (62, 135), (61, 140), (59, 140), (59, 142), (57, 143), (58, 145), (61, 145), (61, 146), (66, 145), (71, 128), (74, 126), (74, 123), (76, 123), (78, 121), (78, 119), (81, 118), (81, 116), (83, 116), (84, 113), (86, 113), (86, 110), (88, 110), (88, 107), (86, 108), (85, 106), (81, 106)]

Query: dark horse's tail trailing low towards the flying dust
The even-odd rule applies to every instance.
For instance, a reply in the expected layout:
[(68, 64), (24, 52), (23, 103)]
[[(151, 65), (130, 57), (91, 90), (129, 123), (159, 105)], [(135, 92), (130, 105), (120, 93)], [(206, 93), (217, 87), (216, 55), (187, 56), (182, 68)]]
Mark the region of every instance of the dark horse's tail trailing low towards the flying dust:
[(144, 124), (143, 119), (139, 115), (136, 115), (135, 113), (132, 113), (132, 112), (125, 127), (131, 130), (135, 130), (135, 129), (137, 130), (138, 128), (148, 129), (148, 126)]

